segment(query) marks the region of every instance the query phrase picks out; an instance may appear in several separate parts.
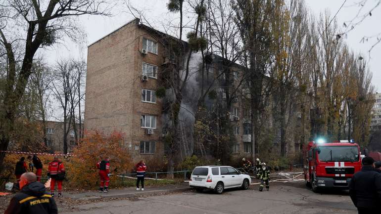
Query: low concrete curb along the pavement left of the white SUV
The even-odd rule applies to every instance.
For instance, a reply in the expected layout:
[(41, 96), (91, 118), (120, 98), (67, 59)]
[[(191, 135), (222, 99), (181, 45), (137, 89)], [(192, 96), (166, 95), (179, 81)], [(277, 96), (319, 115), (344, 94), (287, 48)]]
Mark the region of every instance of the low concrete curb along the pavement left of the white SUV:
[(176, 192), (185, 192), (185, 191), (190, 191), (192, 189), (193, 189), (192, 187), (181, 187), (181, 188), (175, 188), (175, 189), (136, 191), (134, 193), (119, 193), (119, 194), (104, 193), (100, 196), (77, 198), (77, 200), (88, 200), (88, 199), (95, 200), (95, 199), (101, 199), (101, 198), (135, 198), (135, 197), (154, 196), (154, 195), (162, 195), (162, 194), (169, 194), (169, 193), (176, 193)]

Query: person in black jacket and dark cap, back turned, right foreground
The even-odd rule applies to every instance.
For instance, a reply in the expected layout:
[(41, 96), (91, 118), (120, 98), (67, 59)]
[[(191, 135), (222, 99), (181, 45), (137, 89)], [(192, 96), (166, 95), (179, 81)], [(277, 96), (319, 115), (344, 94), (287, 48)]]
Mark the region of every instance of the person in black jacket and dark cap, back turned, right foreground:
[(380, 214), (381, 174), (374, 170), (374, 160), (365, 157), (361, 171), (349, 183), (349, 196), (359, 214)]

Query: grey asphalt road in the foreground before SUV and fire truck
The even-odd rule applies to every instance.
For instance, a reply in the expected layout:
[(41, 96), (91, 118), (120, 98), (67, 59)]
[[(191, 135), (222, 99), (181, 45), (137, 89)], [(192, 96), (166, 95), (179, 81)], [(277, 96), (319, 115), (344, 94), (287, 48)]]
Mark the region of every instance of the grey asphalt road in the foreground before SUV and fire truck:
[[(76, 214), (357, 214), (347, 191), (313, 193), (304, 184), (272, 183), (270, 191), (184, 192), (76, 207)], [(66, 213), (73, 214), (73, 213)]]

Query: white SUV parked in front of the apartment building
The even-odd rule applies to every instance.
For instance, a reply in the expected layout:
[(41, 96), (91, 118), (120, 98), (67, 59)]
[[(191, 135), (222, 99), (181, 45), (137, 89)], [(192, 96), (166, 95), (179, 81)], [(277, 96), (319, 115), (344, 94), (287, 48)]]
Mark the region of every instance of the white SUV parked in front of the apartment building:
[(224, 189), (241, 187), (248, 189), (251, 178), (247, 174), (229, 166), (204, 166), (196, 167), (192, 171), (189, 186), (197, 191), (203, 189), (214, 189), (217, 194), (221, 194)]

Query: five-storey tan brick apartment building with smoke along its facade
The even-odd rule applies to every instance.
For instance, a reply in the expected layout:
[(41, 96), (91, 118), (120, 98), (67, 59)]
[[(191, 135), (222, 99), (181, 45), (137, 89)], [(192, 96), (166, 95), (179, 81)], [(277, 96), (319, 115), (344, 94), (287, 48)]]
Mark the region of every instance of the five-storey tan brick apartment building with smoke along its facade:
[[(172, 38), (134, 19), (88, 47), (85, 129), (105, 134), (123, 132), (123, 144), (134, 160), (161, 158), (165, 154), (164, 138), (170, 126), (166, 112), (168, 100), (157, 96), (156, 91), (162, 87), (162, 71), (173, 62), (172, 57), (168, 57), (168, 50), (157, 39), (164, 36)], [(194, 71), (188, 79), (180, 107), (180, 133), (187, 143), (179, 148), (179, 153), (184, 156), (193, 154), (193, 128), (201, 90), (197, 75), (200, 55), (193, 53), (191, 56), (190, 67)], [(222, 57), (212, 56), (204, 75), (215, 77)], [(238, 72), (234, 72), (234, 79), (238, 78)], [(226, 99), (222, 90), (215, 91), (219, 99)], [(166, 90), (166, 94), (170, 92), (170, 89)], [(251, 157), (250, 113), (239, 99), (235, 98), (232, 103), (229, 116), (236, 137), (231, 153), (237, 157)]]

